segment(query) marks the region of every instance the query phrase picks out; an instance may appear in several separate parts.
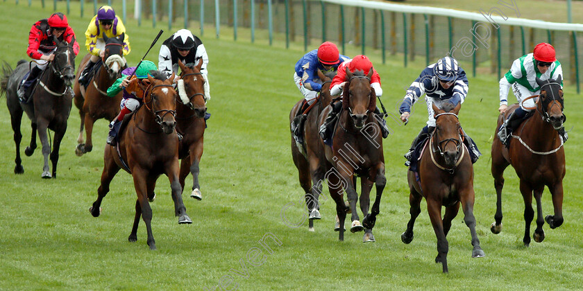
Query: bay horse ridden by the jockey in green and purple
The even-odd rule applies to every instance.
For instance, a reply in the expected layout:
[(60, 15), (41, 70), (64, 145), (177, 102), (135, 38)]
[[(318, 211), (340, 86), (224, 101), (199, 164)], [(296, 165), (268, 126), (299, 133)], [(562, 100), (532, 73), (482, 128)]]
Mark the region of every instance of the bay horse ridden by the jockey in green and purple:
[(132, 175), (137, 194), (135, 218), (128, 240), (137, 240), (137, 226), (141, 215), (148, 233), (146, 243), (150, 249), (156, 249), (151, 229), (152, 209), (149, 199), (153, 200), (155, 183), (160, 175), (165, 174), (170, 180), (178, 223), (190, 224), (192, 220), (186, 214), (182, 188), (178, 182), (178, 136), (174, 131), (177, 94), (172, 86), (174, 74), (167, 80), (162, 72), (151, 73), (155, 78), (148, 76), (150, 85), (144, 93), (144, 104), (124, 118), (127, 125), (125, 132), (120, 132), (117, 148), (105, 146), (101, 186), (97, 189), (97, 200), (89, 210), (94, 217), (101, 214), (101, 200), (109, 192), (113, 177), (123, 168)]

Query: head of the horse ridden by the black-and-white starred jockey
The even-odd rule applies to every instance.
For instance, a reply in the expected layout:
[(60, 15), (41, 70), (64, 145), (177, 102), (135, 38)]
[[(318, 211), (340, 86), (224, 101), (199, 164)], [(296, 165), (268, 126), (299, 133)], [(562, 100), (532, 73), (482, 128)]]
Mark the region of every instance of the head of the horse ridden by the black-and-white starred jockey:
[[(178, 94), (180, 100), (184, 105), (194, 110), (194, 115), (198, 118), (203, 118), (206, 113), (206, 96), (205, 96), (205, 78), (201, 73), (203, 67), (203, 59), (198, 61), (198, 64), (183, 64), (178, 60), (180, 66), (180, 78), (178, 80)], [(180, 82), (182, 81), (182, 82)]]

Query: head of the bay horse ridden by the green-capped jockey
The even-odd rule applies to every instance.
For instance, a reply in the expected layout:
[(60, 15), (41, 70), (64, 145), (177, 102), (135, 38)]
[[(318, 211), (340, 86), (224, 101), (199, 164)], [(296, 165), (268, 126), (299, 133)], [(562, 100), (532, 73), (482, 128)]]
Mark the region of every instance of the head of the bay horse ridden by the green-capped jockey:
[(176, 127), (176, 91), (172, 86), (174, 73), (170, 78), (160, 71), (151, 71), (148, 75), (148, 89), (144, 94), (144, 104), (155, 116), (165, 134), (171, 134)]

